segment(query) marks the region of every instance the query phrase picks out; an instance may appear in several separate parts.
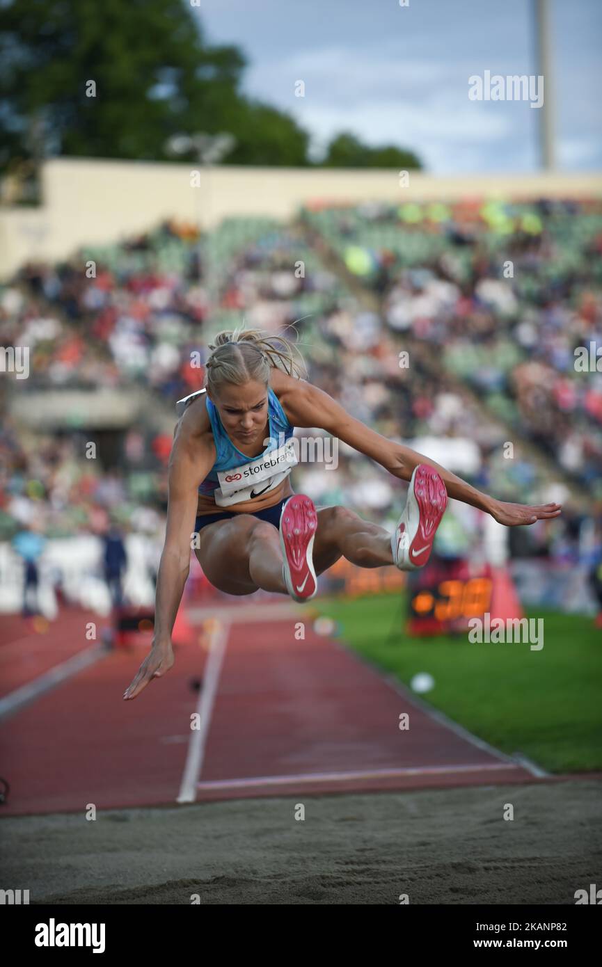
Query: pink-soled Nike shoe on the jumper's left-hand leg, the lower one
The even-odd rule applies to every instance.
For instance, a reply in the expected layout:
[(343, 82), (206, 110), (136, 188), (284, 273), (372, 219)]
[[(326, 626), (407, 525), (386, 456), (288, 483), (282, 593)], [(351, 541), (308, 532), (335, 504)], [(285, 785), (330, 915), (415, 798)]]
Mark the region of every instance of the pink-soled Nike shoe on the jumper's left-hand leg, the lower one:
[(316, 528), (314, 501), (303, 493), (289, 497), (280, 516), (280, 545), (286, 588), (294, 601), (309, 601), (317, 591), (312, 561)]

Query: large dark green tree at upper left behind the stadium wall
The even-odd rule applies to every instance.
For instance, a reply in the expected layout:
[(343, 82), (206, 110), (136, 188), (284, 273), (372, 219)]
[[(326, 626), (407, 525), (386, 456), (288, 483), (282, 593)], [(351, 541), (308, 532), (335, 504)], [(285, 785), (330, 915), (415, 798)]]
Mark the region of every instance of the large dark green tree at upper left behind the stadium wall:
[(205, 44), (183, 0), (0, 0), (0, 168), (165, 160), (171, 134), (228, 130), (225, 161), (307, 163), (307, 133), (240, 94), (245, 66), (236, 47)]

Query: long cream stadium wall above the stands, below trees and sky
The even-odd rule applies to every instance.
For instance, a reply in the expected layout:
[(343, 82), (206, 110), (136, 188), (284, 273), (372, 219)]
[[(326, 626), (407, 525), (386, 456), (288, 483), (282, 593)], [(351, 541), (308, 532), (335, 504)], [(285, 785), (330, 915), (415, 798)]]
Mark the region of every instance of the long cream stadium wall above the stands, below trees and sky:
[(58, 158), (42, 170), (38, 208), (0, 209), (0, 278), (28, 259), (69, 256), (86, 243), (113, 242), (166, 218), (210, 227), (226, 216), (291, 218), (308, 201), (402, 201), (409, 198), (584, 197), (602, 194), (602, 174), (438, 177), (388, 169), (309, 169), (195, 165)]

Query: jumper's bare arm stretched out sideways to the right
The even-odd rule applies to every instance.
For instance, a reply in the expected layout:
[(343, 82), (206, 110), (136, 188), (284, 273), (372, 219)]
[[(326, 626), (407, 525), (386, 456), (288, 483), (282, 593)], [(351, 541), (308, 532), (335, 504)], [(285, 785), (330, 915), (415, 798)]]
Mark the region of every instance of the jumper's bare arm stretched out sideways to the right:
[(540, 518), (557, 517), (560, 513), (559, 504), (540, 504), (530, 507), (525, 504), (507, 504), (496, 500), (476, 490), (449, 470), (445, 470), (435, 460), (418, 454), (415, 450), (410, 450), (409, 447), (395, 443), (393, 440), (388, 440), (360, 420), (349, 416), (336, 399), (318, 387), (304, 380), (297, 380), (296, 383), (294, 389), (287, 392), (283, 399), (292, 424), (326, 430), (360, 454), (366, 454), (376, 460), (376, 463), (394, 477), (408, 481), (419, 463), (428, 463), (440, 474), (450, 497), (461, 500), (465, 504), (471, 504), (480, 511), (491, 513), (498, 523), (505, 524), (507, 527), (516, 524), (532, 524)]

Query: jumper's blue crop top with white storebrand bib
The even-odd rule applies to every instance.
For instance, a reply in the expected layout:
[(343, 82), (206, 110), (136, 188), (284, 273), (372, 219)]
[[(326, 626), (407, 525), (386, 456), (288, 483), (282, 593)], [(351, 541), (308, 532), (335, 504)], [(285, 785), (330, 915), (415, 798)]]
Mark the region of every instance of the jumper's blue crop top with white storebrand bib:
[[(201, 393), (206, 393), (206, 390), (198, 390), (178, 399), (175, 407), (178, 417)], [(265, 450), (258, 456), (242, 454), (234, 446), (216, 406), (208, 396), (206, 406), (213, 430), (216, 461), (198, 487), (198, 492), (213, 497), (218, 507), (229, 507), (242, 500), (253, 500), (282, 484), (299, 461), (294, 449), (294, 426), (289, 423), (272, 388), (268, 388), (269, 438)]]

